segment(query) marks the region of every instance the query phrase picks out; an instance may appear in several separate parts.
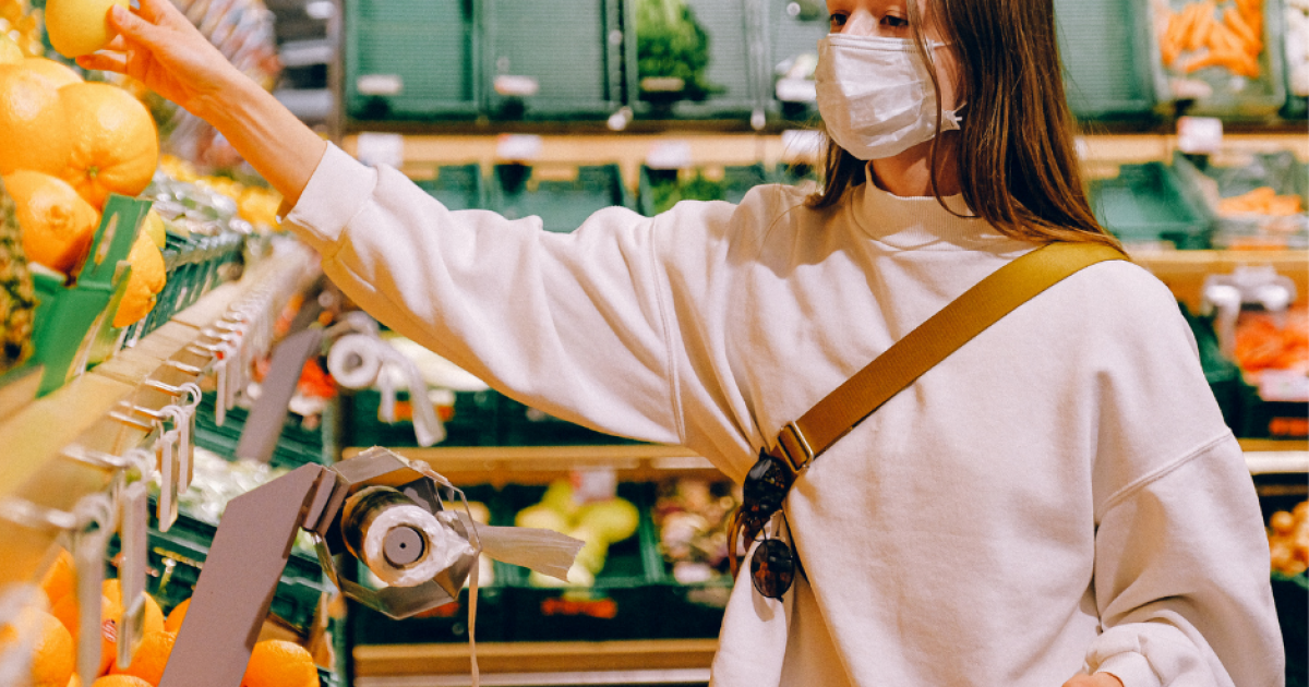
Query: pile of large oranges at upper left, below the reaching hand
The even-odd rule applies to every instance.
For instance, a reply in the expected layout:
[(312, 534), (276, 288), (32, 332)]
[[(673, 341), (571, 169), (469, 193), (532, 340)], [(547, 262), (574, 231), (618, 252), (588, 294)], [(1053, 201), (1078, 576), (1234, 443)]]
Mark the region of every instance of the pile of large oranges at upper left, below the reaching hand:
[[(31, 262), (75, 275), (109, 194), (140, 194), (157, 166), (154, 120), (128, 92), (82, 81), (54, 60), (0, 52), (0, 177)], [(115, 327), (154, 306), (164, 289), (158, 247), (152, 241), (132, 247)]]

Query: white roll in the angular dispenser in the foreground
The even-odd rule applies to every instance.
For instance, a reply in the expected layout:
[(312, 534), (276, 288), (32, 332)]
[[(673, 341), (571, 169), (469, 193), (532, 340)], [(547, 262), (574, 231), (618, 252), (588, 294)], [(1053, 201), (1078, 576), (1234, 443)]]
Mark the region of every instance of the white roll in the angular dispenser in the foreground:
[[(423, 556), (403, 568), (386, 559), (386, 535), (395, 527), (412, 527), (427, 539)], [(459, 557), (474, 554), (467, 539), (416, 505), (386, 508), (364, 533), (364, 564), (391, 586), (421, 585), (454, 565)]]

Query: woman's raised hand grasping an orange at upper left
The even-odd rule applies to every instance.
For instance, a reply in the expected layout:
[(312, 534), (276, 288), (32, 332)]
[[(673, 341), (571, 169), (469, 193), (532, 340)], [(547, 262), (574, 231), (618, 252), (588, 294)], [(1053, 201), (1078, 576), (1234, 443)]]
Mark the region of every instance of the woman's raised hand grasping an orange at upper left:
[(131, 76), (208, 119), (245, 75), (169, 0), (140, 0), (140, 5), (135, 13), (113, 7), (109, 26), (118, 37), (105, 51), (77, 58), (77, 64)]

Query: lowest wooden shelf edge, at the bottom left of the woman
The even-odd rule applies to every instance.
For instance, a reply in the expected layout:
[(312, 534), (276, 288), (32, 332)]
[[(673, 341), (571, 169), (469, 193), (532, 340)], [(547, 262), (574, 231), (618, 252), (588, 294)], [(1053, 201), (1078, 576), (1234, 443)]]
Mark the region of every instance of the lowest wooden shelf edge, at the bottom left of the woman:
[[(478, 644), (483, 684), (708, 682), (717, 640)], [(356, 687), (467, 684), (467, 644), (355, 646)]]

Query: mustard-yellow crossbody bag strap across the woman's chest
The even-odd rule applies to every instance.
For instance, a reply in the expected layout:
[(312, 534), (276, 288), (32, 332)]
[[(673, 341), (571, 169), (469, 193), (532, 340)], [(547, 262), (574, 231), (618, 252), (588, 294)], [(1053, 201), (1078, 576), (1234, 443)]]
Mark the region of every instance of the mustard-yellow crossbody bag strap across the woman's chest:
[(1024, 302), (1085, 267), (1127, 259), (1114, 247), (1079, 242), (1050, 243), (1012, 260), (783, 427), (776, 453), (800, 472), (882, 403)]

